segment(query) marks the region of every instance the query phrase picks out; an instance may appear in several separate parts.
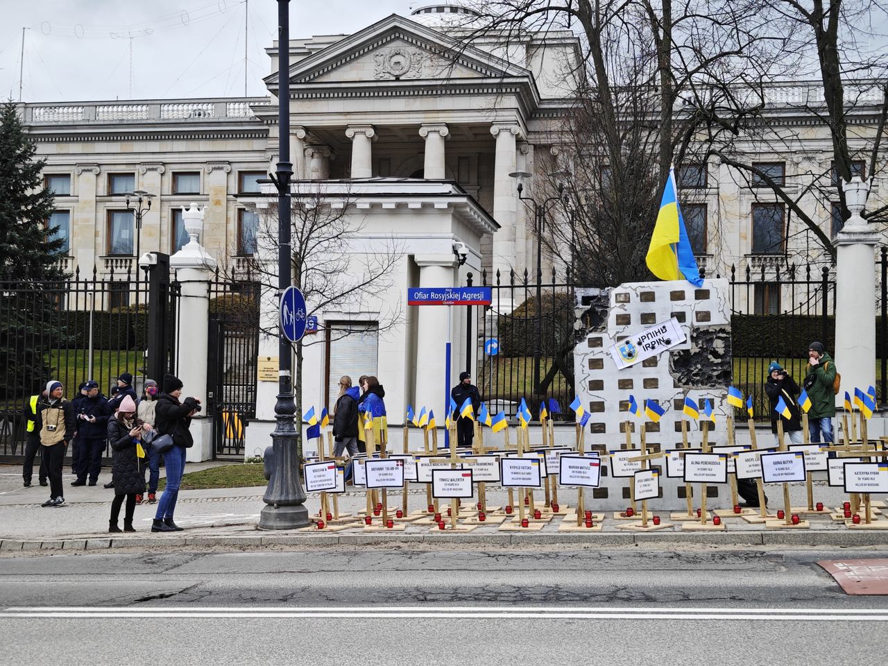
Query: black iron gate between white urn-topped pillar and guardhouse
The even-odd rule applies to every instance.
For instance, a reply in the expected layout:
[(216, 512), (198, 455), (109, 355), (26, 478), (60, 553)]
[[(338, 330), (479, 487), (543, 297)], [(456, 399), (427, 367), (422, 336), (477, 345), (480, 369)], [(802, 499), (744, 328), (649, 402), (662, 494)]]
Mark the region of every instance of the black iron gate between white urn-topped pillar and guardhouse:
[(243, 458), (247, 422), (256, 417), (259, 350), (258, 283), (210, 284), (207, 401), (213, 417), (213, 457)]

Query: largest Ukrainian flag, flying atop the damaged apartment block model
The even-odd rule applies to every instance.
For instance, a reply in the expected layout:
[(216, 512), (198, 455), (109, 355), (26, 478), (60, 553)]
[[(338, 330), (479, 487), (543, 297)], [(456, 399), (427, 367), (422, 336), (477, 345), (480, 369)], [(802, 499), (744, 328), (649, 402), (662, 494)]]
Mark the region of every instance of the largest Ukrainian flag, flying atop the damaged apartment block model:
[(702, 287), (700, 269), (694, 259), (694, 250), (687, 237), (685, 219), (681, 217), (675, 186), (675, 170), (670, 168), (669, 178), (663, 187), (660, 212), (647, 248), (647, 267), (661, 280), (689, 281), (694, 287)]

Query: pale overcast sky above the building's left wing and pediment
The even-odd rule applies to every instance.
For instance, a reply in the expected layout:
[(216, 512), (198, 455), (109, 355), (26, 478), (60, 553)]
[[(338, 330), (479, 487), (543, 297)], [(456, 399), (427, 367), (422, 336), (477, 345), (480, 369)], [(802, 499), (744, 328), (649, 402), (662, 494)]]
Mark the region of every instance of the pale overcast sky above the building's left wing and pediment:
[[(292, 0), (290, 37), (349, 34), (391, 13), (408, 16), (410, 4)], [(274, 39), (277, 5), (249, 0), (249, 95), (266, 94), (262, 77), (272, 64), (264, 49)], [(243, 94), (243, 0), (0, 0), (0, 7), (3, 99), (19, 99), (21, 28), (27, 102)]]

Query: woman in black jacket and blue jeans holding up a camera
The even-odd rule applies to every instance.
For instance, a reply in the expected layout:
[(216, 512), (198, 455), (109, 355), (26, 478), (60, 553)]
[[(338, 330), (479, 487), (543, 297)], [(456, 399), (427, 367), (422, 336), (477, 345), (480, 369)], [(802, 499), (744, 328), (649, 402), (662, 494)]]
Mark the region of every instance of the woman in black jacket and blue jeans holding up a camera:
[[(185, 472), (185, 449), (194, 446), (188, 428), (191, 425), (191, 417), (201, 410), (201, 402), (194, 398), (186, 398), (180, 402), (178, 399), (181, 394), (181, 380), (173, 375), (165, 375), (163, 393), (157, 396), (155, 430), (158, 437), (170, 435), (172, 446), (165, 451), (161, 449), (163, 464), (167, 471), (167, 485), (157, 503), (152, 532), (178, 532), (182, 529), (173, 521), (173, 512), (176, 511), (178, 486)], [(157, 440), (155, 446), (158, 446), (156, 442)]]

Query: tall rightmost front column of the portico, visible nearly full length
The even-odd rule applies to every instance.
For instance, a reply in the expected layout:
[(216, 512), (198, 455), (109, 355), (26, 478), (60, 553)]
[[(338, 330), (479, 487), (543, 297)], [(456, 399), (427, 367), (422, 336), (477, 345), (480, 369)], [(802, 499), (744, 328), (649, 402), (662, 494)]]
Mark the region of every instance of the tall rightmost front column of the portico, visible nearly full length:
[[(509, 176), (516, 170), (518, 123), (494, 123), (490, 133), (496, 137), (494, 163), (494, 219), (500, 229), (494, 234), (493, 274), (500, 270), (508, 276), (515, 262), (515, 213), (518, 210), (518, 182)], [(508, 277), (506, 277), (508, 279)]]

